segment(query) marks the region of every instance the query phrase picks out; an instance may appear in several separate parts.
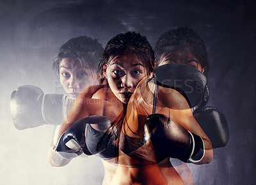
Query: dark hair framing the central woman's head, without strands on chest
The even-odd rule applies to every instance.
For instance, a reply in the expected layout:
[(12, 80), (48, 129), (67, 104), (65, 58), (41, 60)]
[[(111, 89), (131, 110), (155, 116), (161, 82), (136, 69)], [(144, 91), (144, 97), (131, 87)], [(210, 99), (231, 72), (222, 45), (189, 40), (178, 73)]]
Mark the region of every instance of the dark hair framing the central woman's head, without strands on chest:
[(120, 33), (108, 41), (98, 66), (100, 84), (106, 81), (103, 70), (104, 66), (110, 63), (111, 59), (129, 52), (134, 53), (138, 59), (145, 64), (148, 74), (154, 71), (154, 50), (147, 38), (140, 33)]

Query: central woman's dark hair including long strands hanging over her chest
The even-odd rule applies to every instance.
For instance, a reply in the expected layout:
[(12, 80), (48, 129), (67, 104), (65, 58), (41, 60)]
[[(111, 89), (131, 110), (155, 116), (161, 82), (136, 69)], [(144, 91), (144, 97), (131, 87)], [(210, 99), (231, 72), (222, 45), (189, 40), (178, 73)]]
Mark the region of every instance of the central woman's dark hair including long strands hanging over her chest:
[[(114, 36), (111, 40), (108, 41), (102, 57), (100, 59), (100, 64), (98, 66), (99, 73), (99, 82), (100, 84), (106, 82), (106, 77), (104, 77), (104, 66), (108, 65), (113, 58), (116, 56), (122, 56), (124, 54), (128, 54), (132, 52), (138, 59), (143, 63), (145, 68), (147, 69), (148, 74), (154, 72), (155, 67), (155, 56), (154, 50), (150, 46), (147, 38), (145, 36), (141, 36), (140, 33), (135, 32), (127, 32), (120, 33)], [(127, 104), (123, 103), (124, 110), (122, 114), (120, 114), (115, 121), (113, 121), (107, 131), (104, 133), (108, 135), (108, 142), (110, 140), (111, 131), (113, 131), (114, 126), (117, 129), (122, 129), (122, 125), (126, 120), (126, 112), (127, 112)], [(103, 138), (103, 137), (102, 137)], [(99, 149), (100, 144), (102, 143), (102, 138), (100, 139), (97, 150)], [(118, 156), (119, 152), (119, 142), (120, 142), (120, 134), (118, 138), (115, 140), (115, 156)], [(115, 159), (116, 163), (118, 158)]]

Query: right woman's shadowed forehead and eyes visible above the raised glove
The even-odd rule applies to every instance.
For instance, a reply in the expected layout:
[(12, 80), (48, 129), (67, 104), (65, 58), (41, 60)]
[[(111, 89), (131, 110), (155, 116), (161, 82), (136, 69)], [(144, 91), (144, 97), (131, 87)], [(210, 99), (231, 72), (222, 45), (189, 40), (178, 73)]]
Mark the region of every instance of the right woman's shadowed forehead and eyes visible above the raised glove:
[(198, 63), (197, 59), (193, 56), (189, 48), (175, 48), (170, 52), (168, 59), (161, 61), (159, 66), (164, 64), (183, 64), (196, 68), (204, 73), (204, 68)]

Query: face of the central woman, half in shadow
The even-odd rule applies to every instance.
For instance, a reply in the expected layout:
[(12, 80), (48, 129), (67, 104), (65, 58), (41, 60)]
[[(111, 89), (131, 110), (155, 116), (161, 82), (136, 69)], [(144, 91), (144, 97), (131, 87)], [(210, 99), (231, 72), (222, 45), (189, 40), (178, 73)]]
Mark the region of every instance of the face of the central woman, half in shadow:
[(104, 70), (111, 91), (123, 103), (128, 103), (135, 87), (145, 77), (145, 64), (132, 53), (117, 56), (110, 61)]

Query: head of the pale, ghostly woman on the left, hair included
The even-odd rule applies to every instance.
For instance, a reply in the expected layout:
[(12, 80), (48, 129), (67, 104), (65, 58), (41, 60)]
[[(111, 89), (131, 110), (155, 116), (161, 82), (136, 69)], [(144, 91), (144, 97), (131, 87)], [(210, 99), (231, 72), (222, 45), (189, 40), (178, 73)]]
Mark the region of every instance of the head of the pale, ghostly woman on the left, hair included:
[(88, 36), (72, 38), (60, 47), (52, 66), (70, 98), (76, 99), (86, 87), (95, 84), (102, 52), (102, 45)]

